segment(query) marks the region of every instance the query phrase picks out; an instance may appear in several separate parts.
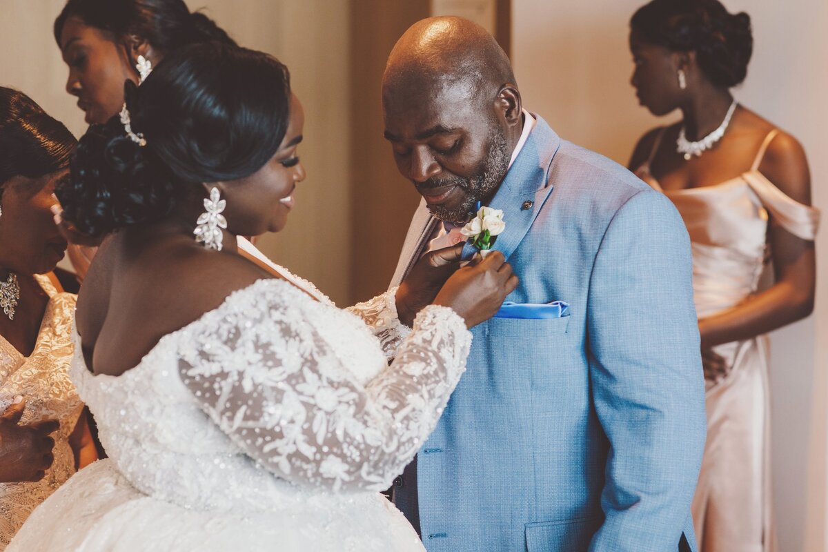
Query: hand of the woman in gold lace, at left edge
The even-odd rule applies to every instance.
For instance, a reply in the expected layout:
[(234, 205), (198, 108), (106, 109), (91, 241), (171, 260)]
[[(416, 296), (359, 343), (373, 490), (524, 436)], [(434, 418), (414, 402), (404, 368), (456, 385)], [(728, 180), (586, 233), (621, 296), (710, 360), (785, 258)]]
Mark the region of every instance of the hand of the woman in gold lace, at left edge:
[(49, 434), (60, 425), (46, 420), (22, 425), (26, 401), (18, 396), (0, 415), (0, 482), (40, 481), (55, 459), (55, 439)]

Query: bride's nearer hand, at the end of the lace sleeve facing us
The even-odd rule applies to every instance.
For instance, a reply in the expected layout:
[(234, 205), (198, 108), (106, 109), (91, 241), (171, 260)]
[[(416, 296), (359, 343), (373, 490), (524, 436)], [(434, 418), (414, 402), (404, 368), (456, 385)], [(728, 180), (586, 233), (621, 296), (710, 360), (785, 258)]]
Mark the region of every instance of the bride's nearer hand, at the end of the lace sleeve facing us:
[(455, 271), (434, 300), (434, 305), (451, 307), (460, 314), (468, 328), (492, 318), (518, 282), (503, 253), (493, 251), (483, 260), (478, 258)]

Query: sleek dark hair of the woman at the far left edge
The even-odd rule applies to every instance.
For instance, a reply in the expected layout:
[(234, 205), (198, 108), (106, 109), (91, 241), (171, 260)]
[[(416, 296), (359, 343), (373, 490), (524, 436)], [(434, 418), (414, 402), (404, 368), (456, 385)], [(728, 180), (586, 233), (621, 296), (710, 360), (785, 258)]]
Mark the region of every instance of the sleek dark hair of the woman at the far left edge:
[(62, 122), (26, 94), (0, 87), (0, 184), (12, 176), (39, 178), (65, 168), (76, 143)]

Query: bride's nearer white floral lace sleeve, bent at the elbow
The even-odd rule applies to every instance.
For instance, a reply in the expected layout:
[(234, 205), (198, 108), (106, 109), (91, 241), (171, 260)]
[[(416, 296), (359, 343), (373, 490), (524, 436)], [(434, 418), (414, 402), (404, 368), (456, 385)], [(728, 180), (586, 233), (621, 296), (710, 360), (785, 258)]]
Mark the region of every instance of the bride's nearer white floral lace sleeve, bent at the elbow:
[(285, 286), (254, 284), (191, 324), (181, 380), (272, 473), (334, 491), (384, 490), (436, 426), (471, 334), (453, 310), (427, 307), (394, 362), (361, 385), (312, 324), (333, 307), (310, 308)]

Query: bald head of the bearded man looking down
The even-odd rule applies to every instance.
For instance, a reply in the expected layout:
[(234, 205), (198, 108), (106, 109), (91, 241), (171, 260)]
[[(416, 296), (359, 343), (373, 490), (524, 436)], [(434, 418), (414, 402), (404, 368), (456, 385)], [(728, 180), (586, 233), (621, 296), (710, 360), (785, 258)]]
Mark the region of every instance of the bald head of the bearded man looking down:
[(522, 129), (508, 57), (483, 27), (432, 17), (397, 41), (383, 74), (385, 137), (437, 218), (465, 221), (497, 192)]

